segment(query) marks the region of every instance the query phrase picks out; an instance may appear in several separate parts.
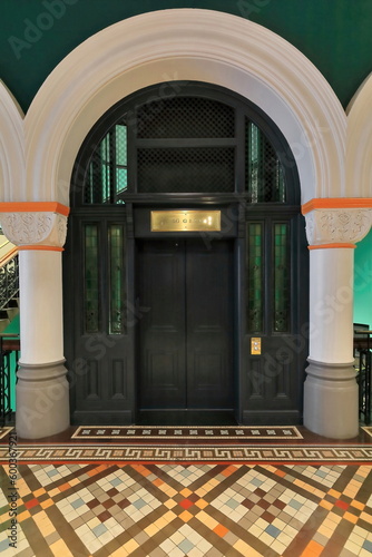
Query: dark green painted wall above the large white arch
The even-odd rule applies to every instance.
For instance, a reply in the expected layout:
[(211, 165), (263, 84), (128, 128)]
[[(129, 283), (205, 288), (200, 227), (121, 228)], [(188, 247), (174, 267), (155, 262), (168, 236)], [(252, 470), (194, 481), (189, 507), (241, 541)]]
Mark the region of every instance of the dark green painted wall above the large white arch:
[(371, 0), (1, 0), (0, 79), (26, 111), (56, 67), (116, 21), (167, 8), (248, 18), (297, 47), (345, 107), (372, 70)]

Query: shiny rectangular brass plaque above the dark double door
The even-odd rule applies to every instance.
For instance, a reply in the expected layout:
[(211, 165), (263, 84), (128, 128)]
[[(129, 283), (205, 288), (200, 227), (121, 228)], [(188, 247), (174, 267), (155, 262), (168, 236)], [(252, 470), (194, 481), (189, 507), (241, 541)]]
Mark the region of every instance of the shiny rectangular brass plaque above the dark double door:
[(151, 232), (219, 232), (221, 211), (151, 211)]

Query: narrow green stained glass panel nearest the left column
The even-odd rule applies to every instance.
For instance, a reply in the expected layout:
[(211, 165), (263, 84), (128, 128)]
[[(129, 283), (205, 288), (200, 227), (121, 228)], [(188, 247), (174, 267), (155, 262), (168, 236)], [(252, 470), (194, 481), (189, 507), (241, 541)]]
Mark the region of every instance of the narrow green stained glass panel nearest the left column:
[(84, 227), (85, 262), (84, 262), (84, 329), (86, 333), (99, 331), (99, 234), (97, 224), (86, 224)]

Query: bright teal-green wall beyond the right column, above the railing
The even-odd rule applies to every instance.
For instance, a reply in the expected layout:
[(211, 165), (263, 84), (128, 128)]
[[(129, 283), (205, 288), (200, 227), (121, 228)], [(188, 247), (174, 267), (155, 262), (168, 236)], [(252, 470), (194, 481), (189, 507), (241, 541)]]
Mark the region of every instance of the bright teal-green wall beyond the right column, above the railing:
[(372, 229), (355, 250), (354, 323), (372, 329)]

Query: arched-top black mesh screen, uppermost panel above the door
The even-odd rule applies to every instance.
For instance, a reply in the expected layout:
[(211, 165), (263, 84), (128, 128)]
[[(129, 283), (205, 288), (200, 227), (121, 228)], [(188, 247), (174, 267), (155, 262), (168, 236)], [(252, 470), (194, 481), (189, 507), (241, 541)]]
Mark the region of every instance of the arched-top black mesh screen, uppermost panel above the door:
[(138, 138), (234, 137), (235, 110), (217, 100), (174, 97), (137, 109)]

